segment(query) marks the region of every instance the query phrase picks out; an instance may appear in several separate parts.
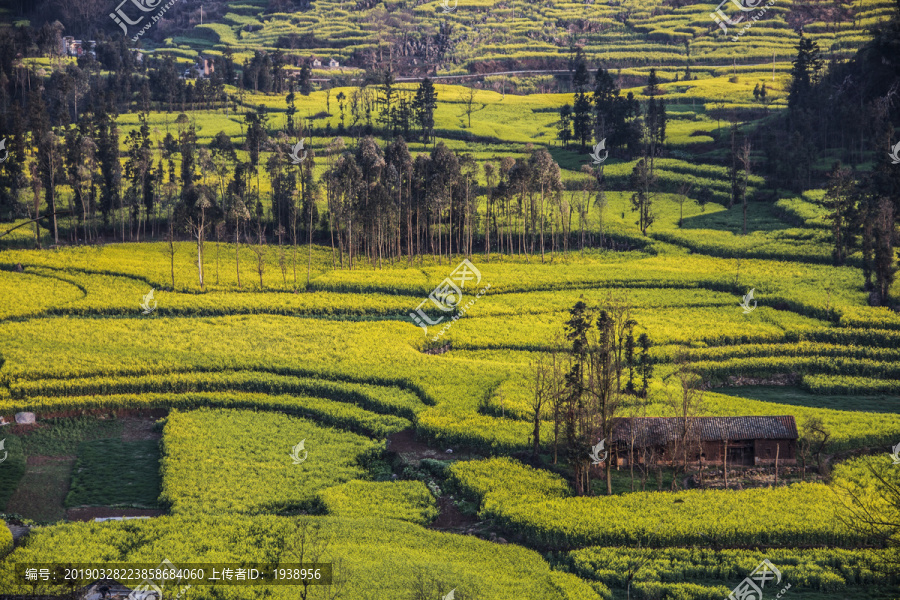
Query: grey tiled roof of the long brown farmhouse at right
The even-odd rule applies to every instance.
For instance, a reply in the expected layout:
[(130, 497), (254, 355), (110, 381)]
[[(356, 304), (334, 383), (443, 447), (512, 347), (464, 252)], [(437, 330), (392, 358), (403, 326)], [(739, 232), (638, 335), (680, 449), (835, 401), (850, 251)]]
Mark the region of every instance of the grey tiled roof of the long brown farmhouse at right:
[[(635, 446), (665, 445), (680, 439), (683, 419), (677, 417), (638, 417), (620, 419), (613, 428), (613, 441)], [(795, 440), (797, 424), (792, 415), (780, 417), (693, 417), (691, 438), (699, 431), (702, 441), (715, 440)]]

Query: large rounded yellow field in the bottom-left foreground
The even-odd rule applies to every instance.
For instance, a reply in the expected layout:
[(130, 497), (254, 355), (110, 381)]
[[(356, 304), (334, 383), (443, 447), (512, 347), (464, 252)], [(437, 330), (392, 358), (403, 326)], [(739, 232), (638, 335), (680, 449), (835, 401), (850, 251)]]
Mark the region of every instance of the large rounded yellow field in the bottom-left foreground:
[[(304, 538), (305, 535), (305, 538)], [(21, 562), (296, 562), (301, 540), (328, 542), (327, 562), (346, 581), (350, 597), (396, 596), (425, 572), (437, 587), (472, 590), (490, 600), (599, 600), (594, 587), (551, 571), (541, 556), (513, 545), (423, 529), (392, 519), (271, 515), (164, 516), (145, 521), (67, 523), (34, 530), (27, 546), (0, 563), (10, 593)], [(390, 560), (385, 560), (390, 557)], [(599, 586), (601, 589), (603, 586)], [(288, 598), (290, 588), (229, 587), (235, 600)], [(435, 594), (439, 590), (434, 590)], [(288, 594), (288, 595), (285, 595)]]

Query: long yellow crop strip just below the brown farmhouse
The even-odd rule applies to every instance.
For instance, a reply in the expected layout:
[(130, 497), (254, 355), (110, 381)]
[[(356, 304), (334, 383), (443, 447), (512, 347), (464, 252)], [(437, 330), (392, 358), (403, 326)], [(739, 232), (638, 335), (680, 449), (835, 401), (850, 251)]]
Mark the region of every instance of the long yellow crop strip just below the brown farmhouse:
[[(711, 543), (720, 547), (852, 547), (868, 543), (861, 533), (841, 523), (840, 506), (822, 484), (565, 497), (564, 482), (558, 476), (510, 459), (487, 459), (474, 467), (457, 463), (451, 467), (451, 477), (455, 485), (481, 501), (482, 518), (494, 519), (538, 548)], [(549, 493), (543, 491), (547, 489)]]

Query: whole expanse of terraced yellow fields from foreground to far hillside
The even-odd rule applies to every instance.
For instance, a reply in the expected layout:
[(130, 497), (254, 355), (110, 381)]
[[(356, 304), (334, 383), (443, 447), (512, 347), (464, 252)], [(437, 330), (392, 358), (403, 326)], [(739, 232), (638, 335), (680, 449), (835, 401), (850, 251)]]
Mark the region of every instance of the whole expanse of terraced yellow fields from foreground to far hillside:
[[(871, 265), (870, 249), (856, 245), (843, 266), (833, 266), (833, 209), (826, 190), (816, 189), (824, 181), (817, 177), (807, 186), (814, 189), (802, 192), (778, 189), (757, 174), (767, 155), (748, 149), (750, 201), (729, 206), (735, 167), (727, 160), (732, 122), (740, 124), (735, 131), (752, 134), (788, 105), (799, 29), (829, 58), (846, 59), (868, 40), (865, 28), (889, 14), (890, 2), (773, 0), (738, 41), (713, 22), (717, 5), (669, 0), (459, 0), (447, 13), (438, 1), (369, 7), (315, 0), (291, 13), (267, 6), (232, 2), (212, 22), (147, 46), (150, 56), (168, 54), (181, 66), (200, 53), (235, 50), (241, 64), (276, 48), (355, 65), (317, 70), (317, 84), (328, 86), (295, 99), (296, 115), (312, 122), (301, 135), (317, 162), (304, 183), (310, 187), (295, 190), (290, 202), (299, 205), (312, 188), (318, 223), (310, 212), (311, 243), (285, 242), (288, 234), (276, 233), (270, 220), (283, 181), (268, 171), (276, 172), (270, 165), (283, 159), (287, 164), (284, 151), (293, 146), (284, 95), (231, 85), (224, 87), (228, 102), (211, 109), (190, 110), (183, 102), (173, 112), (154, 106), (145, 118), (154, 164), (162, 165), (166, 152), (167, 185), (176, 188), (175, 173), (182, 173), (183, 190), (196, 184), (204, 193), (221, 191), (223, 209), (223, 175), (205, 161), (217, 134), (234, 141), (228, 168), (246, 167), (246, 199), (257, 200), (244, 206), (251, 210), (239, 247), (223, 233), (232, 213), (216, 216), (224, 227), (211, 231), (199, 250), (189, 228), (164, 241), (159, 229), (177, 202), (165, 206), (157, 197), (150, 211), (156, 213), (148, 215), (127, 185), (131, 206), (123, 201), (94, 211), (103, 242), (79, 243), (85, 225), (72, 209), (61, 211), (57, 244), (47, 219), (35, 233), (23, 216), (32, 197), (38, 209), (49, 210), (39, 177), (21, 189), (17, 219), (0, 226), (9, 230), (0, 239), (0, 416), (6, 422), (17, 413), (36, 416), (35, 424), (0, 425), (0, 518), (14, 525), (0, 526), (0, 595), (75, 587), (23, 582), (16, 573), (22, 563), (314, 559), (333, 566), (330, 585), (302, 592), (197, 585), (166, 588), (166, 598), (721, 600), (768, 560), (792, 595), (897, 598), (900, 515), (885, 498), (900, 485), (900, 468), (890, 457), (900, 442), (900, 313), (869, 305), (863, 267)], [(423, 69), (412, 64), (415, 50), (392, 52), (398, 39), (408, 38), (412, 47), (441, 36), (447, 47), (437, 76), (484, 77), (474, 92), (436, 85), (434, 139), (411, 140), (410, 163), (427, 162), (436, 147), (467, 161), (477, 238), (490, 231), (497, 199), (489, 191), (500, 189), (490, 182), (496, 168), (534, 160), (546, 149), (548, 162), (559, 166), (560, 184), (546, 252), (520, 251), (526, 236), (534, 248), (532, 223), (516, 252), (509, 250), (510, 235), (507, 252), (492, 246), (464, 255), (457, 245), (446, 254), (432, 247), (395, 259), (390, 248), (383, 260), (354, 255), (350, 268), (343, 247), (329, 244), (334, 192), (326, 171), (339, 157), (388, 140), (378, 138), (377, 128), (374, 138), (363, 137), (361, 127), (334, 139), (345, 116), (338, 94), (356, 92), (349, 78), (362, 74), (356, 67), (366, 57), (378, 55), (372, 61), (388, 62), (401, 75), (409, 71), (397, 89), (411, 95), (411, 80)], [(576, 45), (592, 69), (611, 69), (626, 86), (622, 94), (640, 102), (655, 98), (644, 88), (650, 69), (660, 77), (669, 122), (653, 162), (654, 219), (645, 232), (633, 210), (638, 160), (621, 153), (602, 169), (585, 171), (588, 148), (558, 142), (560, 108), (574, 96), (543, 92), (569, 89), (568, 75), (554, 80), (549, 71), (566, 70)], [(53, 69), (52, 60), (27, 57), (21, 64)], [(688, 67), (692, 78), (685, 81)], [(532, 72), (497, 74), (514, 69)], [(514, 94), (510, 83), (534, 93)], [(754, 98), (762, 83), (765, 101)], [(272, 142), (257, 147), (253, 164), (248, 122), (262, 109)], [(139, 131), (141, 117), (122, 111), (115, 119), (118, 153), (114, 144), (106, 150), (133, 179), (137, 150), (127, 139)], [(164, 142), (188, 126), (204, 159), (196, 177), (185, 174), (193, 168), (182, 161), (187, 141), (175, 151), (165, 146), (177, 142)], [(341, 156), (329, 146), (348, 152)], [(832, 148), (820, 162), (836, 157)], [(373, 164), (383, 157), (375, 158)], [(37, 173), (41, 160), (29, 148), (23, 165)], [(856, 166), (869, 172), (873, 164)], [(91, 173), (91, 185), (103, 188), (102, 171)], [(428, 187), (440, 183), (439, 174), (426, 175), (423, 189), (440, 189)], [(592, 186), (601, 180), (598, 192)], [(399, 191), (389, 226), (400, 232), (412, 202), (407, 199), (404, 213), (402, 174), (384, 181), (382, 191), (392, 194), (379, 200), (387, 199), (384, 206)], [(357, 182), (369, 189), (362, 175)], [(240, 177), (227, 185), (234, 208), (244, 195), (234, 191)], [(522, 207), (526, 198), (535, 204), (537, 190), (543, 219), (544, 188), (526, 193), (523, 184), (522, 190), (524, 226)], [(443, 201), (420, 192), (423, 205)], [(75, 197), (68, 182), (57, 183), (55, 193), (60, 206)], [(181, 201), (187, 196), (182, 191)], [(347, 197), (360, 205), (364, 198), (368, 209), (368, 195)], [(459, 209), (449, 197), (449, 219), (443, 221), (441, 205), (436, 222), (425, 226), (440, 230), (448, 223), (451, 238)], [(507, 218), (516, 200), (506, 199)], [(138, 228), (138, 239), (129, 233), (126, 241), (124, 223), (134, 215), (146, 218), (150, 232)], [(571, 235), (562, 242), (554, 219), (565, 215)], [(368, 226), (352, 218), (351, 227)], [(418, 228), (425, 218), (416, 212), (416, 219)], [(252, 229), (265, 232), (269, 225), (273, 235), (256, 233), (254, 241)], [(518, 221), (515, 227), (518, 236)], [(543, 227), (542, 220), (542, 242)], [(381, 234), (351, 231), (365, 238), (366, 249)], [(584, 250), (573, 242), (579, 236), (588, 240)], [(73, 238), (75, 244), (65, 243)], [(398, 248), (400, 238), (391, 238)], [(37, 244), (43, 249), (34, 249)], [(461, 290), (470, 304), (423, 334), (414, 311), (464, 258), (479, 273)], [(900, 282), (889, 291), (900, 296)], [(605, 472), (598, 467), (605, 462), (594, 459), (600, 448), (593, 443), (602, 436), (593, 431), (590, 448), (567, 454), (562, 440), (571, 432), (560, 426), (562, 405), (536, 409), (535, 379), (542, 361), (568, 368), (565, 361), (575, 360), (581, 303), (597, 315), (627, 312), (626, 361), (638, 370), (627, 377), (643, 378), (644, 387), (617, 393), (618, 416), (681, 416), (691, 407), (679, 400), (692, 393), (702, 397), (708, 417), (792, 416), (798, 464), (779, 465), (776, 454), (774, 465), (703, 466), (698, 454), (696, 470), (659, 464), (636, 474), (622, 464)], [(594, 367), (590, 374), (601, 377), (604, 367)], [(686, 369), (695, 379), (685, 378)], [(575, 375), (555, 381), (568, 391), (576, 386)], [(728, 450), (725, 440), (726, 456)], [(587, 463), (585, 456), (596, 462), (579, 479), (573, 465)], [(860, 506), (871, 509), (879, 527), (888, 524), (887, 536), (860, 523)], [(146, 518), (94, 520), (133, 516)], [(14, 544), (7, 532), (19, 535), (19, 527), (27, 534)], [(767, 600), (777, 593), (773, 588), (766, 589)]]

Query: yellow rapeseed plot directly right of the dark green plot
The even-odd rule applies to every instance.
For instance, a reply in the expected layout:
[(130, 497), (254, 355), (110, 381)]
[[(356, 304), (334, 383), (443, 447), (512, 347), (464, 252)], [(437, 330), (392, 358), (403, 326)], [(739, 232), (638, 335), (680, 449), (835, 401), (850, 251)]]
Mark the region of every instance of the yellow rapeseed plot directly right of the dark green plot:
[(365, 478), (362, 464), (383, 448), (277, 413), (173, 411), (163, 429), (160, 501), (174, 514), (308, 509), (320, 490)]

